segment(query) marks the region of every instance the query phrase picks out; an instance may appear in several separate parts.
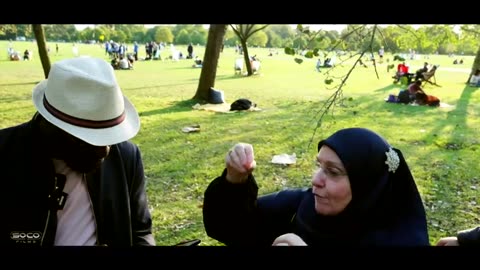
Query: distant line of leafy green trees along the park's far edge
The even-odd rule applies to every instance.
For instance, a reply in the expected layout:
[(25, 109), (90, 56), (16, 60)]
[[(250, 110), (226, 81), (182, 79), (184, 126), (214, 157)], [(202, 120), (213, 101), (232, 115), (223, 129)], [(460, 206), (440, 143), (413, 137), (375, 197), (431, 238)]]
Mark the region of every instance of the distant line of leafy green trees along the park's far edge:
[[(414, 29), (410, 25), (390, 25), (378, 27), (382, 35), (375, 35), (373, 43), (363, 37), (369, 34), (371, 27), (361, 28), (362, 31), (353, 31), (358, 25), (347, 25), (341, 32), (320, 31), (314, 39), (306, 39), (299, 35), (297, 30), (289, 25), (269, 25), (256, 32), (248, 39), (249, 47), (297, 49), (318, 48), (332, 49), (339, 39), (343, 41), (336, 50), (361, 51), (366, 46), (378, 50), (384, 46), (386, 52), (402, 53), (415, 50), (419, 54), (465, 54), (475, 55), (480, 47), (480, 40), (476, 25), (462, 26), (472, 31), (456, 32), (453, 25), (425, 25)], [(205, 45), (208, 29), (203, 25), (177, 24), (159, 25), (147, 28), (138, 24), (98, 24), (81, 31), (73, 24), (44, 24), (45, 38), (48, 42), (115, 42), (146, 43), (149, 41), (186, 45), (189, 43)], [(478, 29), (480, 30), (480, 29)], [(347, 35), (348, 34), (348, 35)], [(0, 24), (0, 40), (16, 40), (25, 37), (33, 40), (34, 34), (29, 24)], [(240, 44), (238, 36), (229, 27), (225, 33), (224, 45), (232, 47)]]

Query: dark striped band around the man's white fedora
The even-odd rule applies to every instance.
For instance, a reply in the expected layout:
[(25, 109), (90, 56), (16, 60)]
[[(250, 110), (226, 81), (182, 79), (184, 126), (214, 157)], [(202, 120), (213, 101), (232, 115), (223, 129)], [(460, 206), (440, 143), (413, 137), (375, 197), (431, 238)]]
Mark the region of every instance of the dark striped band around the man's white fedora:
[(49, 113), (51, 113), (53, 116), (57, 117), (58, 119), (67, 122), (69, 124), (79, 126), (79, 127), (85, 127), (85, 128), (109, 128), (116, 126), (125, 120), (125, 111), (122, 112), (122, 114), (118, 117), (115, 117), (110, 120), (103, 120), (103, 121), (93, 121), (93, 120), (85, 120), (85, 119), (80, 119), (74, 116), (70, 116), (68, 114), (65, 114), (59, 110), (57, 110), (55, 107), (53, 107), (50, 103), (48, 103), (47, 97), (43, 95), (43, 105), (45, 106), (45, 109)]

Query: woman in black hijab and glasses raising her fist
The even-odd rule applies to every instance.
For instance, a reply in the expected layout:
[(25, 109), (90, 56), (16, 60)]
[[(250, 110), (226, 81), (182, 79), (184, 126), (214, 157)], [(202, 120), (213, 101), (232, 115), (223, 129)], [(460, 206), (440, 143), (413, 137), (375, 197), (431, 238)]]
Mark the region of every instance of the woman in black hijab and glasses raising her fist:
[(400, 150), (364, 128), (318, 144), (312, 187), (258, 197), (239, 143), (205, 191), (207, 234), (226, 245), (428, 246), (425, 209)]

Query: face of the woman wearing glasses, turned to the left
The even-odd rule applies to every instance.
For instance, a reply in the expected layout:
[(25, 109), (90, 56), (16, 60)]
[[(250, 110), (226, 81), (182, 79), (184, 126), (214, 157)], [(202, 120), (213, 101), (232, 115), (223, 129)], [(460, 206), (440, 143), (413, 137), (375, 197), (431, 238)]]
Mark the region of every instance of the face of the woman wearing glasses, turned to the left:
[(317, 166), (312, 178), (315, 210), (322, 215), (337, 215), (352, 200), (347, 171), (337, 154), (326, 145), (318, 152)]

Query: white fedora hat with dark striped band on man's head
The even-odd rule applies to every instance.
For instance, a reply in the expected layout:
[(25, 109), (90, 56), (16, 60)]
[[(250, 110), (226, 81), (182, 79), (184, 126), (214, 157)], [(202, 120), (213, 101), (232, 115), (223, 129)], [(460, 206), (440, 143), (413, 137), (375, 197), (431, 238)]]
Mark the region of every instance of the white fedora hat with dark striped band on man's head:
[(138, 113), (122, 94), (113, 67), (100, 58), (54, 63), (32, 98), (47, 121), (92, 145), (117, 144), (140, 129)]

